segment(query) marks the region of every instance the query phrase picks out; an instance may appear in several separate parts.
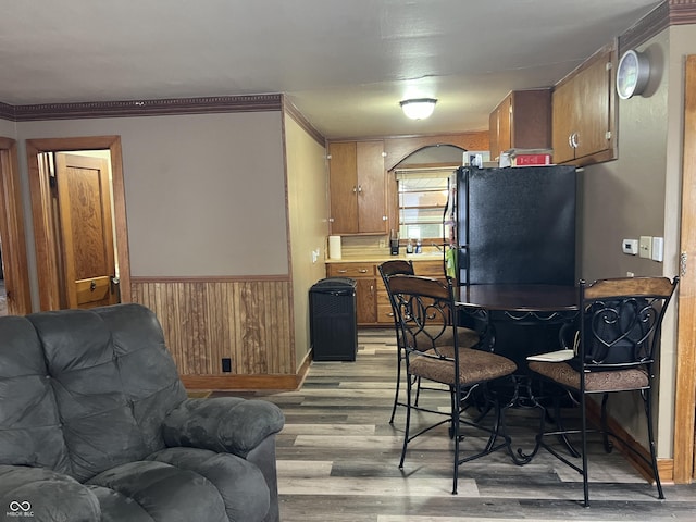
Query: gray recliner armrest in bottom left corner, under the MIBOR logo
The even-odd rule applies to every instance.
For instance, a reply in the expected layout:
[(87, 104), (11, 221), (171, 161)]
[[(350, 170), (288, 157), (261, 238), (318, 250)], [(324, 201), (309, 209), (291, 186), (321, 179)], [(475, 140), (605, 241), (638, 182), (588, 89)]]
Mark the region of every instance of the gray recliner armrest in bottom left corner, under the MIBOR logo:
[(101, 520), (99, 500), (89, 487), (47, 468), (0, 465), (0, 509), (8, 512), (8, 520)]

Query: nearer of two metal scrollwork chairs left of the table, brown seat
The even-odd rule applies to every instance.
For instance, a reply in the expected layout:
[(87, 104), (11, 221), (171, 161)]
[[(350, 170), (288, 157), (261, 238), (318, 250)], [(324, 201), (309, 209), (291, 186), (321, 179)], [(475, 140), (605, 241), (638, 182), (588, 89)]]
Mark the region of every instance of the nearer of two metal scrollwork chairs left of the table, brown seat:
[[(399, 468), (403, 469), (407, 448), (411, 440), (436, 426), (449, 423), (449, 434), (455, 440), (452, 494), (456, 494), (459, 467), (463, 462), (502, 448), (512, 455), (510, 438), (505, 434), (505, 425), (501, 422), (501, 409), (495, 394), (487, 389), (487, 383), (510, 375), (517, 370), (517, 365), (502, 356), (459, 346), (457, 324), (453, 321), (457, 314), (451, 283), (443, 285), (430, 277), (393, 275), (388, 277), (387, 285), (394, 309), (397, 311), (400, 339), (403, 343), (406, 356), (407, 414)], [(445, 336), (451, 339), (451, 345), (442, 343)], [(426, 427), (419, 426), (419, 431), (412, 434), (411, 412), (413, 410), (443, 415), (442, 411), (421, 408), (413, 403), (415, 380), (427, 380), (447, 386), (450, 391), (450, 411), (445, 413), (444, 420)], [(490, 421), (492, 427), (484, 427), (463, 411), (468, 398), (474, 391), (481, 391), (481, 396), (492, 403), (495, 411)], [(488, 434), (485, 447), (465, 457), (460, 457), (462, 424), (481, 428)]]

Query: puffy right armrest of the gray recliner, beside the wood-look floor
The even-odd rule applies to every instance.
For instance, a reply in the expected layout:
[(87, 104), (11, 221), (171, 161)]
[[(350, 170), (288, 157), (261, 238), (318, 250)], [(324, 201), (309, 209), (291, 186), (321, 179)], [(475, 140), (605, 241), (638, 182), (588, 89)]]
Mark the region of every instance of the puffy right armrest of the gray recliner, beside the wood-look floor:
[(227, 451), (246, 458), (266, 437), (279, 432), (283, 411), (272, 402), (238, 397), (186, 399), (164, 419), (169, 447)]

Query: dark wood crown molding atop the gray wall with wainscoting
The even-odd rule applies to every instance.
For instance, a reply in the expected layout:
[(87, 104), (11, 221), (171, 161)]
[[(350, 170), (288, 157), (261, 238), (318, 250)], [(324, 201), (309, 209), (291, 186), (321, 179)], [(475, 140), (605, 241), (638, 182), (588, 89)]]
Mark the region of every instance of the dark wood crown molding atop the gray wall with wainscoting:
[(160, 100), (86, 101), (9, 105), (0, 102), (0, 117), (15, 122), (92, 117), (161, 116), (221, 112), (281, 111), (283, 95), (214, 96)]

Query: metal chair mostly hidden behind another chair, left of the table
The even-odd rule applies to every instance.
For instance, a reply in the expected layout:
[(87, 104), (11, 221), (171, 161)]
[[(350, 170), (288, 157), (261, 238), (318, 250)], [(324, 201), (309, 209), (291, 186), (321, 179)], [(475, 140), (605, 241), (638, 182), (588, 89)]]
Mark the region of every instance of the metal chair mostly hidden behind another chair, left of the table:
[[(387, 279), (393, 275), (415, 275), (413, 270), (413, 263), (411, 261), (406, 261), (402, 259), (393, 259), (389, 261), (385, 261), (380, 266), (380, 275), (382, 276), (382, 281), (384, 282), (384, 286), (387, 289), (387, 296), (389, 297), (389, 302), (391, 303), (391, 315), (394, 316), (394, 325), (396, 327), (396, 341), (397, 341), (397, 361), (396, 361), (396, 389), (394, 391), (394, 406), (391, 407), (391, 417), (389, 417), (389, 424), (394, 424), (394, 415), (396, 414), (397, 406), (406, 406), (406, 403), (399, 401), (399, 393), (401, 391), (401, 366), (403, 364), (403, 359), (406, 353), (403, 351), (403, 343), (401, 341), (401, 330), (399, 327), (399, 318), (397, 316), (397, 310), (394, 308), (394, 301), (391, 300), (391, 296), (389, 296), (389, 285)], [(478, 343), (478, 334), (470, 328), (460, 327), (457, 330), (457, 334), (459, 336), (459, 346), (471, 348)], [(426, 349), (430, 348), (428, 340), (424, 338)], [(418, 346), (418, 339), (414, 339), (415, 346)], [(439, 337), (437, 337), (437, 343), (443, 345), (451, 345), (452, 339), (449, 335), (449, 332), (444, 332)], [(418, 384), (418, 391), (415, 397), (415, 403), (418, 405), (418, 393), (421, 390), (420, 382)]]

